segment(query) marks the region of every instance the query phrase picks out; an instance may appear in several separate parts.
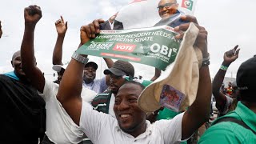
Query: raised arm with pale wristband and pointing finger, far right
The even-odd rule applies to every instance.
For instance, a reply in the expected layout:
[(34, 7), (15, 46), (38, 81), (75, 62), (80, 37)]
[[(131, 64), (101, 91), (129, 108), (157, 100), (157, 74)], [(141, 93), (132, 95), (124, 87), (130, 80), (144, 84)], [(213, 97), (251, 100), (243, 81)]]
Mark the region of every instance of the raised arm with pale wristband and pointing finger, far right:
[(213, 89), (214, 98), (216, 99), (216, 106), (218, 110), (223, 109), (223, 106), (225, 106), (226, 104), (226, 96), (222, 94), (222, 92), (220, 91), (222, 82), (226, 74), (226, 70), (230, 66), (230, 64), (238, 58), (239, 50), (240, 49), (238, 49), (238, 45), (237, 45), (237, 46), (234, 46), (234, 49), (226, 51), (226, 53), (224, 53), (222, 66), (214, 77), (212, 89)]

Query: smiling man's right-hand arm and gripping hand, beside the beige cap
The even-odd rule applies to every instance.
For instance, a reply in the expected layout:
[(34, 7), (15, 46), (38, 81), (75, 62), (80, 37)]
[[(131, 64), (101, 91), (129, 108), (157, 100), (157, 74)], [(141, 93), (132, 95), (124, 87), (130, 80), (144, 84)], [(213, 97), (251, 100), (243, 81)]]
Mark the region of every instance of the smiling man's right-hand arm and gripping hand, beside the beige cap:
[[(192, 16), (182, 16), (188, 22), (194, 22), (199, 29), (198, 38), (194, 43), (202, 51), (202, 57), (209, 56), (207, 50), (207, 31), (204, 27), (198, 26), (197, 19)], [(175, 27), (175, 30), (185, 31), (190, 23)], [(178, 34), (176, 38), (182, 38), (183, 34)], [(208, 66), (202, 66), (199, 70), (198, 94), (194, 103), (186, 110), (182, 118), (182, 139), (189, 138), (210, 116), (211, 82)]]

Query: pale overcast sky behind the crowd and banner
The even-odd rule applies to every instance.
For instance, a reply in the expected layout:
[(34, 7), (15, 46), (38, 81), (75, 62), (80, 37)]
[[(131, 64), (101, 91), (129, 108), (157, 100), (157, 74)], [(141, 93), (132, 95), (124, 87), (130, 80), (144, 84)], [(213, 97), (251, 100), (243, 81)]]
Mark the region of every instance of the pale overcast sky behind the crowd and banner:
[[(79, 29), (94, 19), (108, 19), (131, 0), (0, 0), (0, 20), (3, 35), (0, 39), (0, 73), (13, 70), (10, 65), (12, 54), (20, 49), (24, 32), (23, 10), (26, 6), (38, 5), (42, 9), (42, 18), (35, 30), (34, 49), (38, 67), (46, 78), (54, 78), (52, 53), (57, 38), (54, 22), (60, 15), (68, 22), (68, 30), (63, 44), (62, 62), (70, 61), (74, 50), (78, 48)], [(256, 54), (256, 19), (254, 18), (254, 0), (198, 0), (194, 16), (200, 26), (208, 31), (208, 51), (210, 53), (210, 75), (214, 78), (223, 61), (225, 51), (239, 45), (239, 58), (227, 70), (226, 77), (235, 78), (238, 66)], [(89, 57), (97, 62), (97, 77), (103, 76), (106, 64), (102, 58)], [(150, 79), (154, 68), (135, 64), (135, 75)]]

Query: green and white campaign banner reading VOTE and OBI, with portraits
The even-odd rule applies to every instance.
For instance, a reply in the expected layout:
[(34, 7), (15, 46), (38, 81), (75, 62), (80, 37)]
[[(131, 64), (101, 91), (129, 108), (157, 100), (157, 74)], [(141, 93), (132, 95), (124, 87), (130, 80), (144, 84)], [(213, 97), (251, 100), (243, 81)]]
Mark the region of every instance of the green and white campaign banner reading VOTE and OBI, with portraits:
[(134, 0), (101, 23), (101, 33), (77, 53), (166, 70), (166, 66), (174, 62), (180, 46), (172, 27), (186, 23), (180, 16), (193, 14), (194, 3), (191, 0)]

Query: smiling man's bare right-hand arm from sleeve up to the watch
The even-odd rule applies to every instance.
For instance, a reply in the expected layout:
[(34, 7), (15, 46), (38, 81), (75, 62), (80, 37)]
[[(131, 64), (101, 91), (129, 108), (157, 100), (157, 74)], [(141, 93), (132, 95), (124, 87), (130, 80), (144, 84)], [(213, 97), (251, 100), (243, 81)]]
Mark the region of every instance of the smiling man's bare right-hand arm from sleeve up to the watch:
[(211, 82), (208, 66), (199, 70), (198, 94), (182, 119), (182, 139), (189, 138), (210, 117)]

